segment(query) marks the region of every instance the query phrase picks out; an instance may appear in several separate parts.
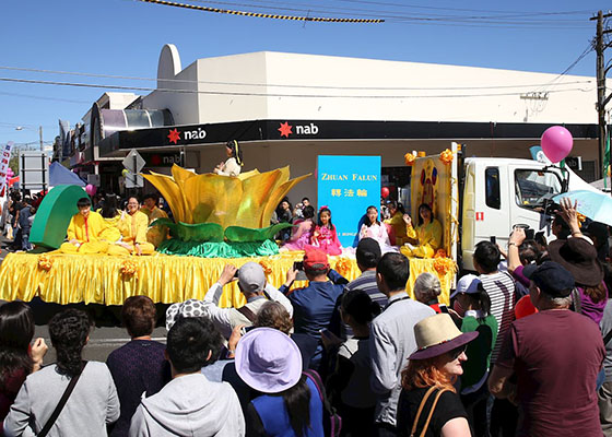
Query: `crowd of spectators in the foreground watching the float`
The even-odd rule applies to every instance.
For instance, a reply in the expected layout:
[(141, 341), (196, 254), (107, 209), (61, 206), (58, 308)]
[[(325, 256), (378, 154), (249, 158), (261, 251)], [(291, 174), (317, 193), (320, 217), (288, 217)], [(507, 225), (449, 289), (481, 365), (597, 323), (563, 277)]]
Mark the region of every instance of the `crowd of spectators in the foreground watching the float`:
[[(275, 288), (260, 264), (227, 262), (202, 300), (168, 307), (166, 344), (151, 338), (163, 319), (153, 302), (128, 298), (131, 341), (106, 364), (83, 362), (92, 323), (71, 308), (49, 322), (58, 358), (43, 366), (31, 309), (4, 304), (3, 433), (611, 436), (608, 229), (582, 229), (567, 201), (554, 223), (550, 245), (522, 227), (504, 250), (479, 243), (478, 274), (458, 280), (448, 306), (436, 274), (415, 279), (410, 298), (409, 258), (367, 237), (352, 282), (316, 248), (297, 288), (295, 268)], [(233, 281), (246, 304), (220, 308)]]

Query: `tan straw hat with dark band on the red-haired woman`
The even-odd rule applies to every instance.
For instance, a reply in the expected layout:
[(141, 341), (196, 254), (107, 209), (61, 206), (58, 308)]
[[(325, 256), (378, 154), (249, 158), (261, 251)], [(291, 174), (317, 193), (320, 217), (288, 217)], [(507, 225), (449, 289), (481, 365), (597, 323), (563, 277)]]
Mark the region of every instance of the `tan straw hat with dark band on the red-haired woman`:
[(426, 317), (414, 326), (416, 352), (408, 359), (426, 359), (443, 355), (479, 335), (478, 331), (462, 333), (447, 314)]

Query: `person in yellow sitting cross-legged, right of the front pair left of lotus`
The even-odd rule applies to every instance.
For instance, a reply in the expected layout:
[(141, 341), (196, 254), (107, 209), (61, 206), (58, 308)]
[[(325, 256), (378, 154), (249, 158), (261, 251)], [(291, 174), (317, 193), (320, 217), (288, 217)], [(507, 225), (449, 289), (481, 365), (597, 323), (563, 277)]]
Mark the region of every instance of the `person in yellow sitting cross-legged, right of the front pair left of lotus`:
[(121, 240), (108, 248), (108, 255), (151, 255), (155, 246), (146, 241), (149, 217), (140, 211), (140, 202), (136, 197), (128, 198), (128, 212), (121, 213), (118, 228)]

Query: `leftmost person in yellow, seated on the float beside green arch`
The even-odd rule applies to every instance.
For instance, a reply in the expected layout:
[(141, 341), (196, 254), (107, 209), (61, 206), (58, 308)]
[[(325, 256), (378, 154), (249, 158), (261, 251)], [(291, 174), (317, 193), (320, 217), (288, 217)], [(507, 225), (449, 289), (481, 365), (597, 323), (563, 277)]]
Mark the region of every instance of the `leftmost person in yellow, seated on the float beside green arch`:
[(114, 229), (97, 212), (92, 211), (90, 198), (76, 202), (79, 212), (70, 218), (66, 234), (68, 241), (59, 250), (62, 253), (106, 253)]

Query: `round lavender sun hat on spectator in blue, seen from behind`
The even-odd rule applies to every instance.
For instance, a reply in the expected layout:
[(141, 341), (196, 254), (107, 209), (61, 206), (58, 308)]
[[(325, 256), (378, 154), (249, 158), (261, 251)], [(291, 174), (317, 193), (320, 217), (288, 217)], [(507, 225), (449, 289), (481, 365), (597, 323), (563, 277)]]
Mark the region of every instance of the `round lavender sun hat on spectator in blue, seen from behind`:
[(272, 328), (256, 328), (238, 342), (236, 371), (250, 388), (279, 393), (302, 377), (302, 354), (291, 338)]

